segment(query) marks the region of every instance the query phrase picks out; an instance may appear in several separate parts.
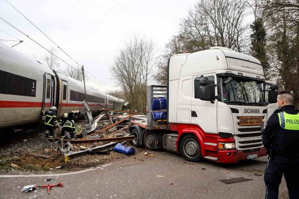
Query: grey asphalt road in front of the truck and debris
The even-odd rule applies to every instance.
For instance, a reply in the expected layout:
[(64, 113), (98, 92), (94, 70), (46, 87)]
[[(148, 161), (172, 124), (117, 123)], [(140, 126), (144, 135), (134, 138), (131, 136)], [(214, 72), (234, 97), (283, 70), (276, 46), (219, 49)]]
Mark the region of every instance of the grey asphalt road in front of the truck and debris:
[[(263, 180), (267, 157), (246, 160), (236, 164), (210, 161), (191, 163), (181, 156), (152, 151), (111, 162), (94, 170), (51, 176), (51, 184), (61, 182), (65, 187), (50, 190), (39, 188), (24, 193), (23, 186), (44, 185), (45, 176), (0, 176), (0, 198), (264, 198)], [(135, 157), (135, 158), (134, 158)], [(141, 161), (144, 159), (144, 161)], [(202, 169), (202, 168), (205, 168)], [(228, 171), (228, 173), (226, 173)], [(24, 174), (25, 172), (22, 172)], [(10, 174), (10, 173), (8, 173)], [(14, 173), (16, 174), (16, 173)], [(18, 174), (18, 173), (17, 173)], [(30, 173), (32, 175), (32, 173)], [(255, 175), (258, 174), (258, 175)], [(260, 174), (262, 174), (260, 176)], [(7, 175), (7, 174), (6, 174)], [(159, 177), (162, 176), (162, 177)], [(224, 184), (219, 180), (245, 177), (250, 181)], [(170, 184), (173, 183), (173, 184)], [(288, 198), (286, 182), (280, 185), (280, 197)]]

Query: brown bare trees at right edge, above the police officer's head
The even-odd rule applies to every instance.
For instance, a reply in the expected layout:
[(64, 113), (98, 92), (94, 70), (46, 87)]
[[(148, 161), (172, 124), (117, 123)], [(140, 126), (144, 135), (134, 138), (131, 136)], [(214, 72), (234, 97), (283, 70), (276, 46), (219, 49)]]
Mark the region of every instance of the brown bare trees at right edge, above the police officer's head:
[(270, 75), (299, 105), (299, 1), (266, 0)]

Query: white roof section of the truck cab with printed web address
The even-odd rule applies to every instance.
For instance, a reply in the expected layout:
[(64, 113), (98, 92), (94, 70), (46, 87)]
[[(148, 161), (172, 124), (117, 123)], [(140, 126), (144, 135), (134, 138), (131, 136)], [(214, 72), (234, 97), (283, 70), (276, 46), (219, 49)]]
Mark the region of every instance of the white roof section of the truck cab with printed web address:
[(232, 71), (260, 76), (264, 72), (260, 61), (252, 56), (236, 52), (229, 48), (212, 47), (195, 53), (182, 53), (171, 56), (169, 63), (169, 80), (180, 79), (208, 73)]

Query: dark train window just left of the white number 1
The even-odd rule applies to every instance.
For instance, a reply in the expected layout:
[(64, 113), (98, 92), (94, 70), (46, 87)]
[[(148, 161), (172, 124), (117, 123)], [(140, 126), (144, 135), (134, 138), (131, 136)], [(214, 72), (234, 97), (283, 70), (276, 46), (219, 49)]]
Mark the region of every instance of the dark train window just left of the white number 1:
[(7, 93), (13, 95), (30, 96), (31, 93), (30, 79), (22, 76), (9, 74), (8, 82), (7, 82)]

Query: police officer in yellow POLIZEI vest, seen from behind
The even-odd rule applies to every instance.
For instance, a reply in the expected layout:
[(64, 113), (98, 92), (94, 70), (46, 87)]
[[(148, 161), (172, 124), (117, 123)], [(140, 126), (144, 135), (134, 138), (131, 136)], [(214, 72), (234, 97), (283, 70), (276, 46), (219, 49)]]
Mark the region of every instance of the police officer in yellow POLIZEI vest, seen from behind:
[(278, 109), (269, 117), (262, 133), (263, 145), (269, 151), (264, 175), (267, 199), (278, 198), (283, 174), (289, 198), (299, 198), (299, 113), (292, 102), (289, 91), (278, 94)]

